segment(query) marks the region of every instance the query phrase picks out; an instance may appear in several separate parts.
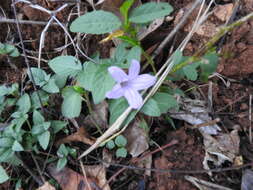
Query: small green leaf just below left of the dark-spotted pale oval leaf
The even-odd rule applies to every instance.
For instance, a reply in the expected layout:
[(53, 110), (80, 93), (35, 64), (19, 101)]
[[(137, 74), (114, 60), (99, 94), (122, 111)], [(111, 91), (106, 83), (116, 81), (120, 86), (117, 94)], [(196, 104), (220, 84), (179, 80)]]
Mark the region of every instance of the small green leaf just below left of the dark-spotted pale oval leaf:
[(47, 83), (46, 81), (47, 73), (43, 71), (42, 69), (32, 67), (31, 73), (28, 72), (28, 75), (29, 75), (30, 80), (32, 80), (32, 76), (33, 76), (35, 84), (40, 87), (42, 87), (44, 84)]

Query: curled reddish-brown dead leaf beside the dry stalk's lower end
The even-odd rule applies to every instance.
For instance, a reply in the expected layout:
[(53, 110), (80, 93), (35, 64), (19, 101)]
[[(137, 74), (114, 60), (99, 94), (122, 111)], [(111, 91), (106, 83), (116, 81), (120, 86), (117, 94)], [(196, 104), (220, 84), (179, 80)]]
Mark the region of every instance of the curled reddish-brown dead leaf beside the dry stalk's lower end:
[(84, 144), (92, 145), (95, 141), (95, 138), (89, 136), (84, 127), (80, 127), (74, 134), (58, 140), (56, 146), (70, 142), (83, 142)]

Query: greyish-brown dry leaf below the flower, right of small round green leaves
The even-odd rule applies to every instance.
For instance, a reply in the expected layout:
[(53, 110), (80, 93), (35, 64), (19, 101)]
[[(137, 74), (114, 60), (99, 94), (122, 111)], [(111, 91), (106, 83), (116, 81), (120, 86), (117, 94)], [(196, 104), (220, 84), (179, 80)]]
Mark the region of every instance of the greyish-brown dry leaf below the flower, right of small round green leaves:
[(124, 132), (127, 139), (127, 151), (133, 156), (137, 157), (149, 148), (148, 136), (144, 128), (141, 127), (141, 122), (136, 119)]

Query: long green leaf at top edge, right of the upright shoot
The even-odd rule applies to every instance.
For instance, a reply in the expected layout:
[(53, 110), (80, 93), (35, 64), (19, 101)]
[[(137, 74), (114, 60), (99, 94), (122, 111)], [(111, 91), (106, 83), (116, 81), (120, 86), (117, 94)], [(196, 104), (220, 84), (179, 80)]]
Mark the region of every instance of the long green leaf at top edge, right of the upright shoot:
[(169, 15), (172, 11), (173, 8), (168, 3), (145, 3), (130, 13), (129, 20), (133, 23), (147, 23)]

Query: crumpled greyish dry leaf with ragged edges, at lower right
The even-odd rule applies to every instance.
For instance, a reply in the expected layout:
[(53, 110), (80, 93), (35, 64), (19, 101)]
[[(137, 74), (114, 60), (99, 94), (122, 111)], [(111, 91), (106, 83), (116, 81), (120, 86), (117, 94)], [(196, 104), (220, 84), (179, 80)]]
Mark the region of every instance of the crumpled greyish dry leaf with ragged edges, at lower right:
[(220, 166), (225, 161), (234, 162), (234, 159), (239, 154), (240, 138), (238, 131), (235, 129), (230, 134), (219, 134), (212, 137), (208, 134), (203, 134), (205, 146), (205, 159), (203, 161), (204, 168), (210, 169), (208, 161), (214, 165)]

